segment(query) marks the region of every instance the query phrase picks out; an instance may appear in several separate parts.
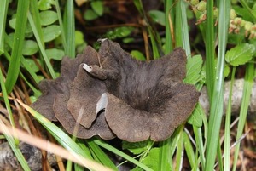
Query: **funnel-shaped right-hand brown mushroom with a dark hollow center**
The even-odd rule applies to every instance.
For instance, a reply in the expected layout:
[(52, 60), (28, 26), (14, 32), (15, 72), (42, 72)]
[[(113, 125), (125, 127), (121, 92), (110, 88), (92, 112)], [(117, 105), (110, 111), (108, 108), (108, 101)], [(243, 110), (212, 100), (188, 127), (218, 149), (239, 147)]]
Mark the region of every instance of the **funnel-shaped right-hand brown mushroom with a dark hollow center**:
[(132, 59), (118, 43), (105, 40), (102, 47), (102, 67), (84, 69), (105, 80), (105, 117), (113, 133), (131, 142), (166, 140), (189, 117), (200, 95), (182, 83), (183, 49), (147, 63)]

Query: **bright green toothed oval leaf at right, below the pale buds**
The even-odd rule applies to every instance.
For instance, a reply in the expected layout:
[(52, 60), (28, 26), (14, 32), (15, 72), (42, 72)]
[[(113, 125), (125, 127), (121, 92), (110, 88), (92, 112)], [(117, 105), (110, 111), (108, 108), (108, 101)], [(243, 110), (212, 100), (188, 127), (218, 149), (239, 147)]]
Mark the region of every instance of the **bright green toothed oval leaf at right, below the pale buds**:
[(243, 43), (231, 48), (225, 55), (225, 60), (231, 66), (239, 66), (253, 58), (255, 47), (252, 44)]

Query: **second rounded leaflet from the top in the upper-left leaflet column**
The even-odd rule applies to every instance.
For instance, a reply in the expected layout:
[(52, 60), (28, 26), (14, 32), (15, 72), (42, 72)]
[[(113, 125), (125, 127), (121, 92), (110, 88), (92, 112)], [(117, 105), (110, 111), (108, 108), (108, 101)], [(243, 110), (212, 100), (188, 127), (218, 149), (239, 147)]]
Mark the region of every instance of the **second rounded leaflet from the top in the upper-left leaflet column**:
[(58, 14), (51, 10), (41, 12), (39, 17), (42, 26), (49, 26), (58, 20)]

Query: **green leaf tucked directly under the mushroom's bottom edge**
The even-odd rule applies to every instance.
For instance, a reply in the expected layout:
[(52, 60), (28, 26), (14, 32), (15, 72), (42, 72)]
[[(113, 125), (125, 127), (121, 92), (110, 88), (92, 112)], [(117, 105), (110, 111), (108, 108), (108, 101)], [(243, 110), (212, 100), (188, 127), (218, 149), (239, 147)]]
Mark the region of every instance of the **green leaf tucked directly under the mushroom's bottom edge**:
[(122, 148), (124, 150), (128, 150), (133, 154), (141, 154), (144, 151), (147, 151), (149, 148), (151, 148), (151, 146), (153, 145), (153, 141), (152, 140), (145, 140), (142, 142), (127, 142), (125, 140), (123, 140), (122, 142)]

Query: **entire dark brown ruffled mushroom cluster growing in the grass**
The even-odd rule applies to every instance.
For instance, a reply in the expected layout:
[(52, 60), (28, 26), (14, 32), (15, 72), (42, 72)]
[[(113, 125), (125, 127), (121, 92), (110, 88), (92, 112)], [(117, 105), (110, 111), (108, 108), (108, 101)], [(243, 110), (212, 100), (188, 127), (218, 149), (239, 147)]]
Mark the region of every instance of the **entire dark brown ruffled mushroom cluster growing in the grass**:
[(61, 77), (39, 84), (32, 104), (69, 134), (104, 140), (166, 140), (195, 108), (200, 93), (183, 83), (186, 55), (176, 48), (160, 60), (137, 61), (108, 39), (61, 62)]

